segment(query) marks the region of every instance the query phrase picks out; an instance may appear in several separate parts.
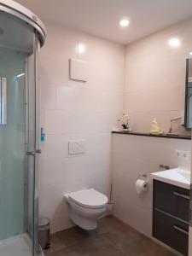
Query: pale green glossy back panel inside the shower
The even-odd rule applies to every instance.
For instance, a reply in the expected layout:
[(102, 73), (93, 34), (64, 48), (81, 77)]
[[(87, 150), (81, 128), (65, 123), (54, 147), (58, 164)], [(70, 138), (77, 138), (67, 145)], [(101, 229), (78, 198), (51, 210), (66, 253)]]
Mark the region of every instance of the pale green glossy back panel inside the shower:
[(24, 228), (25, 55), (0, 48), (0, 76), (8, 84), (8, 121), (0, 126), (0, 240)]

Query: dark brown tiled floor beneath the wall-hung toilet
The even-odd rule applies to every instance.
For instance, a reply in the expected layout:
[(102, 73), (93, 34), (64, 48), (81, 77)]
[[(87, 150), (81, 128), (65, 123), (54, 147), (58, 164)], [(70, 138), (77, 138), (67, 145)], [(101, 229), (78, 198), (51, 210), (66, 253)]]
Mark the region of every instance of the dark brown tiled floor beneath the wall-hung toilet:
[(174, 256), (117, 218), (99, 220), (97, 230), (73, 227), (51, 236), (45, 256)]

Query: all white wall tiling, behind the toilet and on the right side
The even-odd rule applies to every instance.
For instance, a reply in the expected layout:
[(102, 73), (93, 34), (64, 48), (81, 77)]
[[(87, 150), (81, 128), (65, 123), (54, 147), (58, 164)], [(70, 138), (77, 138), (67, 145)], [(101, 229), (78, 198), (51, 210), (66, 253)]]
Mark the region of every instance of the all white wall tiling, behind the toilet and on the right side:
[[(116, 120), (129, 112), (135, 131), (148, 131), (156, 117), (167, 131), (183, 114), (185, 57), (192, 42), (192, 20), (127, 46), (46, 24), (48, 38), (40, 52), (41, 124), (46, 133), (39, 170), (40, 213), (51, 219), (51, 232), (71, 225), (63, 195), (93, 187), (108, 194), (111, 183), (111, 134)], [(170, 49), (167, 38), (182, 39)], [(77, 55), (78, 43), (85, 52)], [(68, 59), (88, 63), (86, 84), (68, 79)], [(126, 65), (125, 65), (126, 59)], [(165, 61), (166, 60), (166, 61)], [(125, 84), (125, 88), (124, 88)], [(123, 106), (124, 98), (124, 106)], [(69, 140), (84, 139), (86, 153), (68, 155)], [(140, 172), (179, 163), (174, 149), (190, 150), (176, 139), (113, 135), (114, 214), (145, 235), (151, 234), (152, 194), (138, 197)]]

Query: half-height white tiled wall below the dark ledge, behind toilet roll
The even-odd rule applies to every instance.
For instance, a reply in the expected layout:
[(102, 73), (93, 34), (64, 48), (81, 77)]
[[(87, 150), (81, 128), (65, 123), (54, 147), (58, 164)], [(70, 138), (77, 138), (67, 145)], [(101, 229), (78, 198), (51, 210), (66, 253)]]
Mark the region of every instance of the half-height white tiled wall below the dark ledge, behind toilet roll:
[(146, 236), (152, 234), (152, 181), (143, 195), (135, 182), (140, 173), (159, 172), (160, 164), (190, 168), (191, 159), (177, 159), (175, 149), (191, 152), (191, 141), (113, 134), (114, 215)]

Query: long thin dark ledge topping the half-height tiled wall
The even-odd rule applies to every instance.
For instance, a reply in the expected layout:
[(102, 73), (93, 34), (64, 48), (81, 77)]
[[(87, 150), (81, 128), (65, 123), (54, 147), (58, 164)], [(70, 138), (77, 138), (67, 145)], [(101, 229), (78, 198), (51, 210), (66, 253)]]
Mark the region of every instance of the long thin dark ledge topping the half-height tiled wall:
[(124, 134), (124, 135), (135, 135), (135, 136), (147, 136), (147, 137), (164, 137), (164, 138), (175, 138), (175, 139), (184, 139), (184, 140), (191, 140), (190, 136), (183, 136), (183, 135), (172, 135), (172, 134), (150, 134), (145, 132), (134, 132), (134, 131), (112, 131), (114, 134)]

